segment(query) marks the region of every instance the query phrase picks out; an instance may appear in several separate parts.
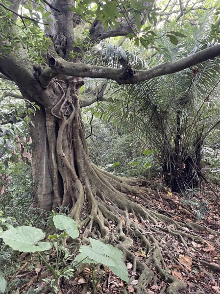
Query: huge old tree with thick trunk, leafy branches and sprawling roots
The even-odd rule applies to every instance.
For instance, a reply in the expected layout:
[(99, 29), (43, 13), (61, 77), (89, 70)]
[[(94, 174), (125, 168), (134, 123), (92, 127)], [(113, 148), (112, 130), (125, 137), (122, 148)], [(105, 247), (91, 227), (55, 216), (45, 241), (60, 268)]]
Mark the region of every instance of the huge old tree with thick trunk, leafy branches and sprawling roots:
[[(184, 12), (196, 9), (195, 4), (187, 9), (187, 3), (189, 1), (185, 4), (180, 1), (177, 19), (184, 16)], [(171, 15), (175, 5), (167, 16)], [(163, 259), (162, 248), (166, 242), (162, 236), (165, 234), (166, 238), (179, 239), (182, 244), (180, 248), (185, 246), (185, 251), (190, 254), (189, 239), (203, 242), (196, 231), (213, 235), (220, 233), (193, 221), (184, 222), (183, 225), (180, 220), (173, 220), (166, 212), (152, 208), (151, 195), (157, 193), (141, 187), (143, 181), (121, 178), (99, 169), (91, 162), (80, 103), (88, 105), (95, 99), (89, 97), (90, 101), (80, 102), (79, 91), (84, 77), (132, 84), (175, 73), (219, 56), (220, 45), (198, 50), (193, 55), (146, 71), (132, 69), (124, 58), (121, 58), (118, 69), (93, 66), (81, 60), (85, 52), (100, 40), (127, 36), (134, 37), (136, 44), (148, 46), (152, 43), (152, 38), (156, 37), (145, 24), (153, 24), (156, 15), (166, 16), (166, 9), (156, 13), (154, 1), (141, 0), (5, 0), (0, 2), (0, 9), (0, 77), (14, 82), (23, 98), (40, 106), (32, 118), (34, 127), (30, 129), (34, 143), (34, 203), (44, 211), (60, 206), (69, 207), (70, 216), (82, 228), (83, 242), (92, 236), (103, 242), (118, 244), (125, 259), (133, 262), (133, 270), (140, 274), (138, 284), (134, 286), (137, 293), (147, 293), (151, 281), (159, 281), (160, 278), (169, 283), (167, 288), (165, 285), (167, 293), (175, 294), (185, 289), (187, 285), (169, 273)], [(142, 25), (144, 37), (139, 35)], [(41, 33), (43, 29), (44, 37)], [(87, 31), (84, 39), (80, 33), (83, 29)], [(78, 35), (80, 40), (76, 37)], [(168, 34), (174, 43), (175, 35), (182, 34)], [(131, 194), (141, 198), (145, 206), (138, 204)], [(161, 222), (164, 223), (163, 231), (158, 225)], [(109, 229), (110, 223), (115, 225), (115, 229)], [(142, 244), (149, 253), (145, 262), (134, 254), (132, 239)], [(181, 252), (181, 249), (168, 243), (166, 248), (171, 250), (171, 260), (175, 260)], [(200, 267), (196, 258), (194, 262)], [(199, 262), (220, 271), (217, 265)], [(199, 287), (197, 290), (197, 293), (201, 293)], [(126, 290), (124, 293), (127, 293)]]

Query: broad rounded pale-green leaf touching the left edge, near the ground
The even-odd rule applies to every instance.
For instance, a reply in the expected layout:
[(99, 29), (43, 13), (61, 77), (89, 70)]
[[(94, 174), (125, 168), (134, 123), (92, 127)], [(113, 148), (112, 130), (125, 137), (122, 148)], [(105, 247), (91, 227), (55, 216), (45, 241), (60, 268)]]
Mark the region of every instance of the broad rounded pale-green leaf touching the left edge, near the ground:
[(39, 242), (45, 238), (42, 230), (25, 225), (4, 231), (1, 238), (12, 249), (21, 252), (44, 251), (49, 250), (52, 246), (49, 242)]

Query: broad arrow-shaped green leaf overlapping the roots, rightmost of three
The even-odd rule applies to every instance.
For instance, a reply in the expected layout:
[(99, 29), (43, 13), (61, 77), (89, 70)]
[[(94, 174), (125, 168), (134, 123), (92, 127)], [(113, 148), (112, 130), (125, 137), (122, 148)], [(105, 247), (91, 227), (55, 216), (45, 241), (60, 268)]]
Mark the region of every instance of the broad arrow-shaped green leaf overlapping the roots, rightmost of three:
[(104, 244), (92, 238), (89, 238), (89, 241), (92, 247), (85, 245), (80, 246), (80, 253), (76, 256), (75, 261), (80, 262), (88, 257), (83, 260), (82, 263), (101, 263), (108, 266), (109, 269), (123, 281), (128, 282), (128, 272), (122, 260), (122, 251), (110, 244)]

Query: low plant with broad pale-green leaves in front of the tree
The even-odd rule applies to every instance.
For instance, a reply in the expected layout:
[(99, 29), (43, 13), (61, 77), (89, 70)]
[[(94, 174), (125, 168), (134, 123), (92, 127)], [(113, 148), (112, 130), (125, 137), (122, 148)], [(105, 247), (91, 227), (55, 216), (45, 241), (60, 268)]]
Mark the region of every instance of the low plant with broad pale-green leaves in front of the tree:
[[(92, 247), (81, 245), (79, 249), (80, 253), (76, 256), (72, 265), (66, 266), (66, 264), (63, 263), (62, 256), (64, 255), (64, 259), (67, 259), (71, 255), (70, 251), (66, 248), (66, 239), (69, 236), (73, 239), (79, 236), (77, 224), (71, 218), (60, 214), (53, 216), (53, 223), (58, 230), (61, 230), (61, 233), (49, 235), (48, 239), (50, 242), (42, 242), (41, 240), (45, 239), (46, 234), (41, 229), (31, 226), (18, 226), (15, 228), (12, 227), (6, 231), (1, 231), (0, 238), (2, 238), (6, 245), (10, 246), (14, 250), (38, 253), (53, 275), (52, 280), (45, 279), (44, 281), (50, 284), (55, 293), (61, 293), (61, 278), (64, 277), (69, 279), (70, 277), (73, 277), (73, 274), (80, 263), (92, 264), (94, 291), (96, 291), (98, 283), (105, 273), (105, 271), (103, 271), (100, 277), (97, 278), (95, 265), (99, 263), (107, 266), (122, 280), (128, 282), (128, 272), (124, 262), (122, 261), (122, 251), (112, 245), (106, 245), (92, 238), (89, 238)], [(54, 246), (56, 250), (55, 266), (50, 264), (40, 253), (41, 251), (51, 249), (52, 246)], [(0, 272), (0, 292), (4, 293), (5, 289), (6, 280)]]

